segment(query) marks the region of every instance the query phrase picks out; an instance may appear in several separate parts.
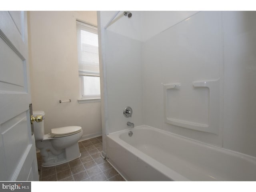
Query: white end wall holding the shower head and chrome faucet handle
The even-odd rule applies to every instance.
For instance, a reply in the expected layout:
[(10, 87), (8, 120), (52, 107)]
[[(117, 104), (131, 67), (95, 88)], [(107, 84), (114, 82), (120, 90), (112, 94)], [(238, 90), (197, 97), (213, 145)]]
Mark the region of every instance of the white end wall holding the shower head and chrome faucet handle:
[[(134, 19), (125, 17), (123, 12), (114, 19), (106, 30), (104, 27), (114, 11), (101, 11), (102, 57), (105, 70), (105, 122), (106, 134), (144, 124), (142, 114), (142, 71), (140, 12), (132, 12)], [(118, 25), (117, 25), (118, 24)], [(120, 26), (119, 26), (120, 25)], [(113, 32), (115, 31), (115, 32)], [(116, 32), (117, 31), (117, 32)], [(131, 118), (123, 115), (126, 106), (133, 110)], [(104, 132), (104, 131), (103, 131)], [(104, 138), (104, 137), (103, 137)], [(104, 144), (104, 143), (103, 143)]]

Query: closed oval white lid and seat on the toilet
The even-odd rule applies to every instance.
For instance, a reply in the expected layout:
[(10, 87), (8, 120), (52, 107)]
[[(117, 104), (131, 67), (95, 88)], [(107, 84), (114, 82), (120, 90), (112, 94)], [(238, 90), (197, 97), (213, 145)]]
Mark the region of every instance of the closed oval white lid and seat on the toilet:
[(80, 126), (67, 126), (67, 127), (60, 127), (54, 128), (51, 131), (51, 137), (64, 137), (76, 134), (80, 132), (82, 128)]

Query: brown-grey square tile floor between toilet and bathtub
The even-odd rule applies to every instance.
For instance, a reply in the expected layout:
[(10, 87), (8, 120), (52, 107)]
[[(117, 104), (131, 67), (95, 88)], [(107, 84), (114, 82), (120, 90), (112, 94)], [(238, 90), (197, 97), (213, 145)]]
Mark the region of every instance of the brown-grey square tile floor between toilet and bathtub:
[(102, 136), (79, 142), (81, 156), (53, 167), (42, 167), (37, 153), (40, 181), (124, 181), (124, 178), (100, 154)]

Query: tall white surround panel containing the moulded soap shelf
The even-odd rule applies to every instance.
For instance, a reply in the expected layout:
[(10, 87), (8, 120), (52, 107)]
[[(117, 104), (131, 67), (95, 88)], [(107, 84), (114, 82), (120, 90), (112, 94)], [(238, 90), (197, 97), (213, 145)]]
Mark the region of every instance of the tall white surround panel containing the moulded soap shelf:
[(164, 128), (218, 146), (223, 118), (221, 21), (220, 12), (199, 12), (161, 36)]

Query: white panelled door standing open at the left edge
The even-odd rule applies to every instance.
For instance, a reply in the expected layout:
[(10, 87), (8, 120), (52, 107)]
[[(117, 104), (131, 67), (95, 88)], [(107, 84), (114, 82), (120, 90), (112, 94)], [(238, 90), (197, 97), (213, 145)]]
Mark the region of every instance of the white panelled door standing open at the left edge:
[(27, 15), (0, 11), (0, 180), (38, 180), (30, 125)]

